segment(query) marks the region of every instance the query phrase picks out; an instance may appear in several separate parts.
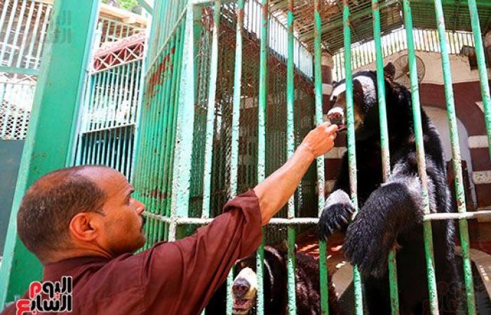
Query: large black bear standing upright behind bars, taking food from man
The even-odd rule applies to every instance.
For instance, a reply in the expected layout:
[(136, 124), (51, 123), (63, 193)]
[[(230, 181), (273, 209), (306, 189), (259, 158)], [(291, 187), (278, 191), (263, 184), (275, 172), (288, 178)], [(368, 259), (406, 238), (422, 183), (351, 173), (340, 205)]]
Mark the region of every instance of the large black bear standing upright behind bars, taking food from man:
[[(391, 175), (382, 183), (377, 76), (374, 71), (361, 71), (353, 76), (360, 211), (349, 223), (354, 207), (349, 198), (346, 153), (335, 187), (325, 201), (318, 230), (323, 238), (335, 229), (346, 232), (344, 255), (363, 274), (370, 314), (391, 314), (387, 260), (393, 248), (396, 248), (401, 314), (429, 314), (422, 227), (424, 200), (418, 177), (411, 94), (392, 80), (395, 70), (392, 64), (384, 70)], [(346, 130), (344, 80), (335, 84), (330, 102), (328, 118), (339, 125), (339, 130)], [(423, 110), (421, 119), (429, 208), (432, 213), (454, 212), (440, 137)], [(458, 297), (446, 294), (448, 290), (445, 290), (459, 286), (453, 222), (434, 221), (432, 226), (440, 314), (455, 314)]]

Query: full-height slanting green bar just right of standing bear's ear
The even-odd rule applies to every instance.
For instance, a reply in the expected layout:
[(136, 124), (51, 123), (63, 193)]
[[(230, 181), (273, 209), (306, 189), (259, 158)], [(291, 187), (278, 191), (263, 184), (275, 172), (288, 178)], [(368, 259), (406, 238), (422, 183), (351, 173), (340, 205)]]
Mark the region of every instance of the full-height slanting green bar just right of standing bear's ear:
[[(412, 98), (412, 119), (415, 125), (416, 137), (416, 153), (418, 159), (418, 173), (422, 182), (422, 197), (424, 200), (424, 213), (429, 214), (428, 186), (426, 180), (426, 161), (424, 156), (423, 132), (421, 123), (421, 108), (419, 105), (419, 86), (417, 80), (417, 66), (415, 57), (414, 39), (412, 38), (412, 13), (410, 0), (403, 0), (404, 21), (406, 29), (406, 37), (408, 38), (408, 58), (409, 58), (409, 73), (411, 83), (411, 98)], [(438, 295), (436, 292), (435, 278), (435, 258), (433, 255), (433, 236), (431, 232), (431, 222), (424, 221), (424, 251), (426, 254), (426, 272), (428, 274), (428, 290), (431, 314), (437, 315), (438, 311)]]

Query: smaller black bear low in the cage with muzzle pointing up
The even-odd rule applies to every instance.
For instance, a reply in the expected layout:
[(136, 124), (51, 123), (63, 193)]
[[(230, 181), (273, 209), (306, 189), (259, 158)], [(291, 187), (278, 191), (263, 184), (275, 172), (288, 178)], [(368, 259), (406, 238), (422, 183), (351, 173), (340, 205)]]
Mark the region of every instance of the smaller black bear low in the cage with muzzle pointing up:
[[(264, 247), (264, 314), (288, 314), (286, 251)], [(232, 285), (233, 314), (245, 315), (253, 311), (257, 293), (255, 255), (238, 263), (240, 272)], [(321, 314), (318, 260), (306, 253), (295, 253), (295, 283), (298, 315)], [(334, 287), (329, 285), (329, 314), (339, 313)]]

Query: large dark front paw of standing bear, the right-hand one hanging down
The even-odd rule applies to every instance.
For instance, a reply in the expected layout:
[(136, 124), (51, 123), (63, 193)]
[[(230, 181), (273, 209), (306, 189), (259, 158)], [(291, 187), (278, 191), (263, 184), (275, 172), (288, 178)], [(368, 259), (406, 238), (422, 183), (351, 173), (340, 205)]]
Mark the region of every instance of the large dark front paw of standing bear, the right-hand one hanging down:
[(349, 225), (344, 238), (344, 255), (363, 274), (379, 278), (386, 273), (389, 252), (396, 244), (396, 236), (394, 231), (364, 219), (360, 213)]

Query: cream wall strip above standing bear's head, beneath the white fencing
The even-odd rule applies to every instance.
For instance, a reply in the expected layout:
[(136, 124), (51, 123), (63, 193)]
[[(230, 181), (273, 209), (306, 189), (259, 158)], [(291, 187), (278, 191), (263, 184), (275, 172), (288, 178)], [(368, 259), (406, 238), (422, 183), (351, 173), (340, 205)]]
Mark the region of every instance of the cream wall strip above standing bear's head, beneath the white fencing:
[[(490, 39), (491, 40), (491, 39)], [(407, 55), (408, 50), (403, 50), (401, 52), (397, 52), (394, 55), (390, 55), (389, 57), (384, 58), (384, 65), (389, 62), (394, 62), (398, 57), (402, 55)], [(422, 83), (433, 83), (443, 85), (443, 71), (442, 71), (442, 62), (441, 56), (439, 52), (416, 52), (417, 57), (420, 57), (426, 68), (425, 75)], [(462, 82), (471, 82), (479, 80), (478, 70), (471, 70), (469, 66), (469, 59), (466, 56), (457, 56), (450, 55), (450, 66), (452, 67), (452, 82), (453, 83), (462, 83)], [(375, 62), (371, 64), (367, 64), (362, 66), (359, 69), (355, 69), (353, 72), (360, 70), (375, 70), (376, 69)], [(487, 69), (488, 76), (491, 77), (491, 70)]]

